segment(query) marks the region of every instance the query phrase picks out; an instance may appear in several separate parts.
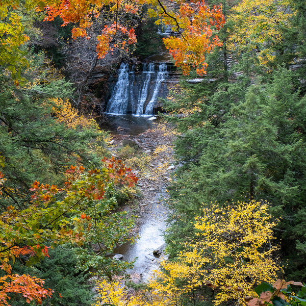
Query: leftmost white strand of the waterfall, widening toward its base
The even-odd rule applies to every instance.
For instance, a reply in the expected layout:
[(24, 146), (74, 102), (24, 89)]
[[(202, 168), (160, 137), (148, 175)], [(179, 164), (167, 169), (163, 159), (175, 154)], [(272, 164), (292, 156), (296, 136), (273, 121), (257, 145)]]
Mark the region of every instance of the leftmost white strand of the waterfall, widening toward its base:
[(108, 101), (106, 112), (109, 114), (125, 114), (129, 103), (129, 65), (122, 63), (119, 68), (118, 81), (111, 98)]

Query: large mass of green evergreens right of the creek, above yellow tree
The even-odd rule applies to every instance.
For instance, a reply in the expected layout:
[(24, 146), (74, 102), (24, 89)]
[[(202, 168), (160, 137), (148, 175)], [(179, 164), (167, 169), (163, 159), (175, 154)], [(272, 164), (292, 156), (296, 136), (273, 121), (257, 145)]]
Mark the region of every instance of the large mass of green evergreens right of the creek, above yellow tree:
[(220, 84), (202, 98), (200, 88), (206, 94), (208, 88), (199, 85), (176, 100), (197, 103), (199, 109), (177, 120), (183, 133), (176, 141), (176, 155), (184, 165), (169, 188), (174, 222), (168, 250), (175, 256), (182, 249), (179, 242), (192, 239), (192, 220), (202, 202), (265, 199), (274, 216), (284, 217), (277, 232), (284, 241), (283, 260), (295, 257), (290, 257), (286, 272), (299, 270), (297, 276), (303, 277), (304, 257), (300, 251), (296, 258), (296, 252), (303, 249), (305, 237), (305, 99), (290, 70), (279, 68), (266, 80), (246, 91), (243, 78), (241, 83)]

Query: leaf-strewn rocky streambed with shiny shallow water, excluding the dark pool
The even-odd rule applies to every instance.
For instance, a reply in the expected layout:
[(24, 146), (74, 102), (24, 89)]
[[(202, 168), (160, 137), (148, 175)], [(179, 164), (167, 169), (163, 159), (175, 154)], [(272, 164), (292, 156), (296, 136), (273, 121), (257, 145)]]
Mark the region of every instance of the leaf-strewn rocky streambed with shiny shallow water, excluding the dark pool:
[[(137, 146), (137, 153), (124, 162), (137, 173), (137, 188), (141, 196), (137, 197), (137, 227), (139, 239), (134, 244), (125, 243), (115, 249), (122, 254), (124, 261), (135, 258), (134, 268), (127, 271), (134, 282), (146, 281), (150, 272), (158, 267), (163, 257), (166, 219), (169, 210), (165, 200), (168, 197), (167, 186), (172, 180), (175, 169), (173, 159), (173, 138), (175, 133), (170, 125), (152, 123), (152, 128), (139, 135), (114, 135), (109, 149), (117, 156), (124, 144)], [(161, 256), (161, 257), (160, 257)]]

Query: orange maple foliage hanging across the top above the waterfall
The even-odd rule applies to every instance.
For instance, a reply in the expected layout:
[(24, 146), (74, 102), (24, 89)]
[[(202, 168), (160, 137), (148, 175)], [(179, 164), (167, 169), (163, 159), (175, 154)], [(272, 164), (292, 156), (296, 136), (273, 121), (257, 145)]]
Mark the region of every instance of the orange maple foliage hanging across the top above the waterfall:
[[(87, 30), (92, 26), (93, 20), (101, 15), (107, 15), (108, 21), (97, 36), (96, 52), (100, 59), (116, 49), (128, 50), (129, 45), (137, 42), (135, 30), (124, 22), (121, 23), (120, 16), (130, 14), (133, 17), (143, 5), (150, 7), (148, 14), (150, 17), (157, 17), (157, 24), (164, 23), (177, 33), (164, 39), (175, 65), (182, 67), (184, 74), (189, 73), (190, 66), (196, 67), (198, 74), (205, 74), (205, 54), (211, 52), (215, 46), (222, 45), (213, 34), (225, 22), (221, 6), (211, 9), (202, 0), (178, 0), (171, 6), (166, 6), (161, 0), (41, 0), (38, 3), (34, 0), (27, 1), (28, 9), (36, 7), (37, 10), (46, 13), (45, 20), (54, 20), (60, 16), (63, 25), (74, 24), (73, 38), (89, 39)], [(10, 11), (18, 6), (17, 0), (11, 0), (0, 7), (0, 12), (6, 18), (12, 14)], [(22, 29), (21, 23), (19, 28)], [(2, 32), (0, 38), (5, 41)], [(15, 40), (17, 41), (17, 38)], [(16, 42), (17, 46), (18, 43)]]

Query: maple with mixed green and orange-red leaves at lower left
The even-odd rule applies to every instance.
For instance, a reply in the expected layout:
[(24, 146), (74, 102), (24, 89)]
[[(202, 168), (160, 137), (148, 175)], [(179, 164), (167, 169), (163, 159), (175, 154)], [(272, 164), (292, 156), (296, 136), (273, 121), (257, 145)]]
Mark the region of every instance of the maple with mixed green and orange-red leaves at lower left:
[[(82, 166), (71, 166), (66, 171), (67, 182), (63, 187), (35, 181), (31, 188), (32, 202), (27, 209), (9, 206), (0, 215), (0, 268), (5, 273), (0, 277), (1, 306), (9, 305), (11, 294), (21, 294), (28, 303), (35, 300), (39, 304), (52, 295), (51, 289), (42, 287), (43, 279), (13, 273), (12, 263), (18, 258), (24, 261), (48, 257), (47, 245), (90, 243), (99, 226), (109, 232), (97, 237), (104, 248), (109, 244), (111, 248), (122, 236), (127, 239), (133, 224), (129, 220), (125, 224), (122, 213), (117, 215), (120, 222), (115, 222), (110, 193), (114, 185), (133, 186), (137, 177), (121, 161), (114, 158), (103, 161), (105, 167), (87, 172)], [(3, 159), (0, 162), (3, 166)], [(0, 172), (0, 187), (5, 184), (4, 180), (5, 175)], [(99, 252), (103, 250), (101, 246)]]

